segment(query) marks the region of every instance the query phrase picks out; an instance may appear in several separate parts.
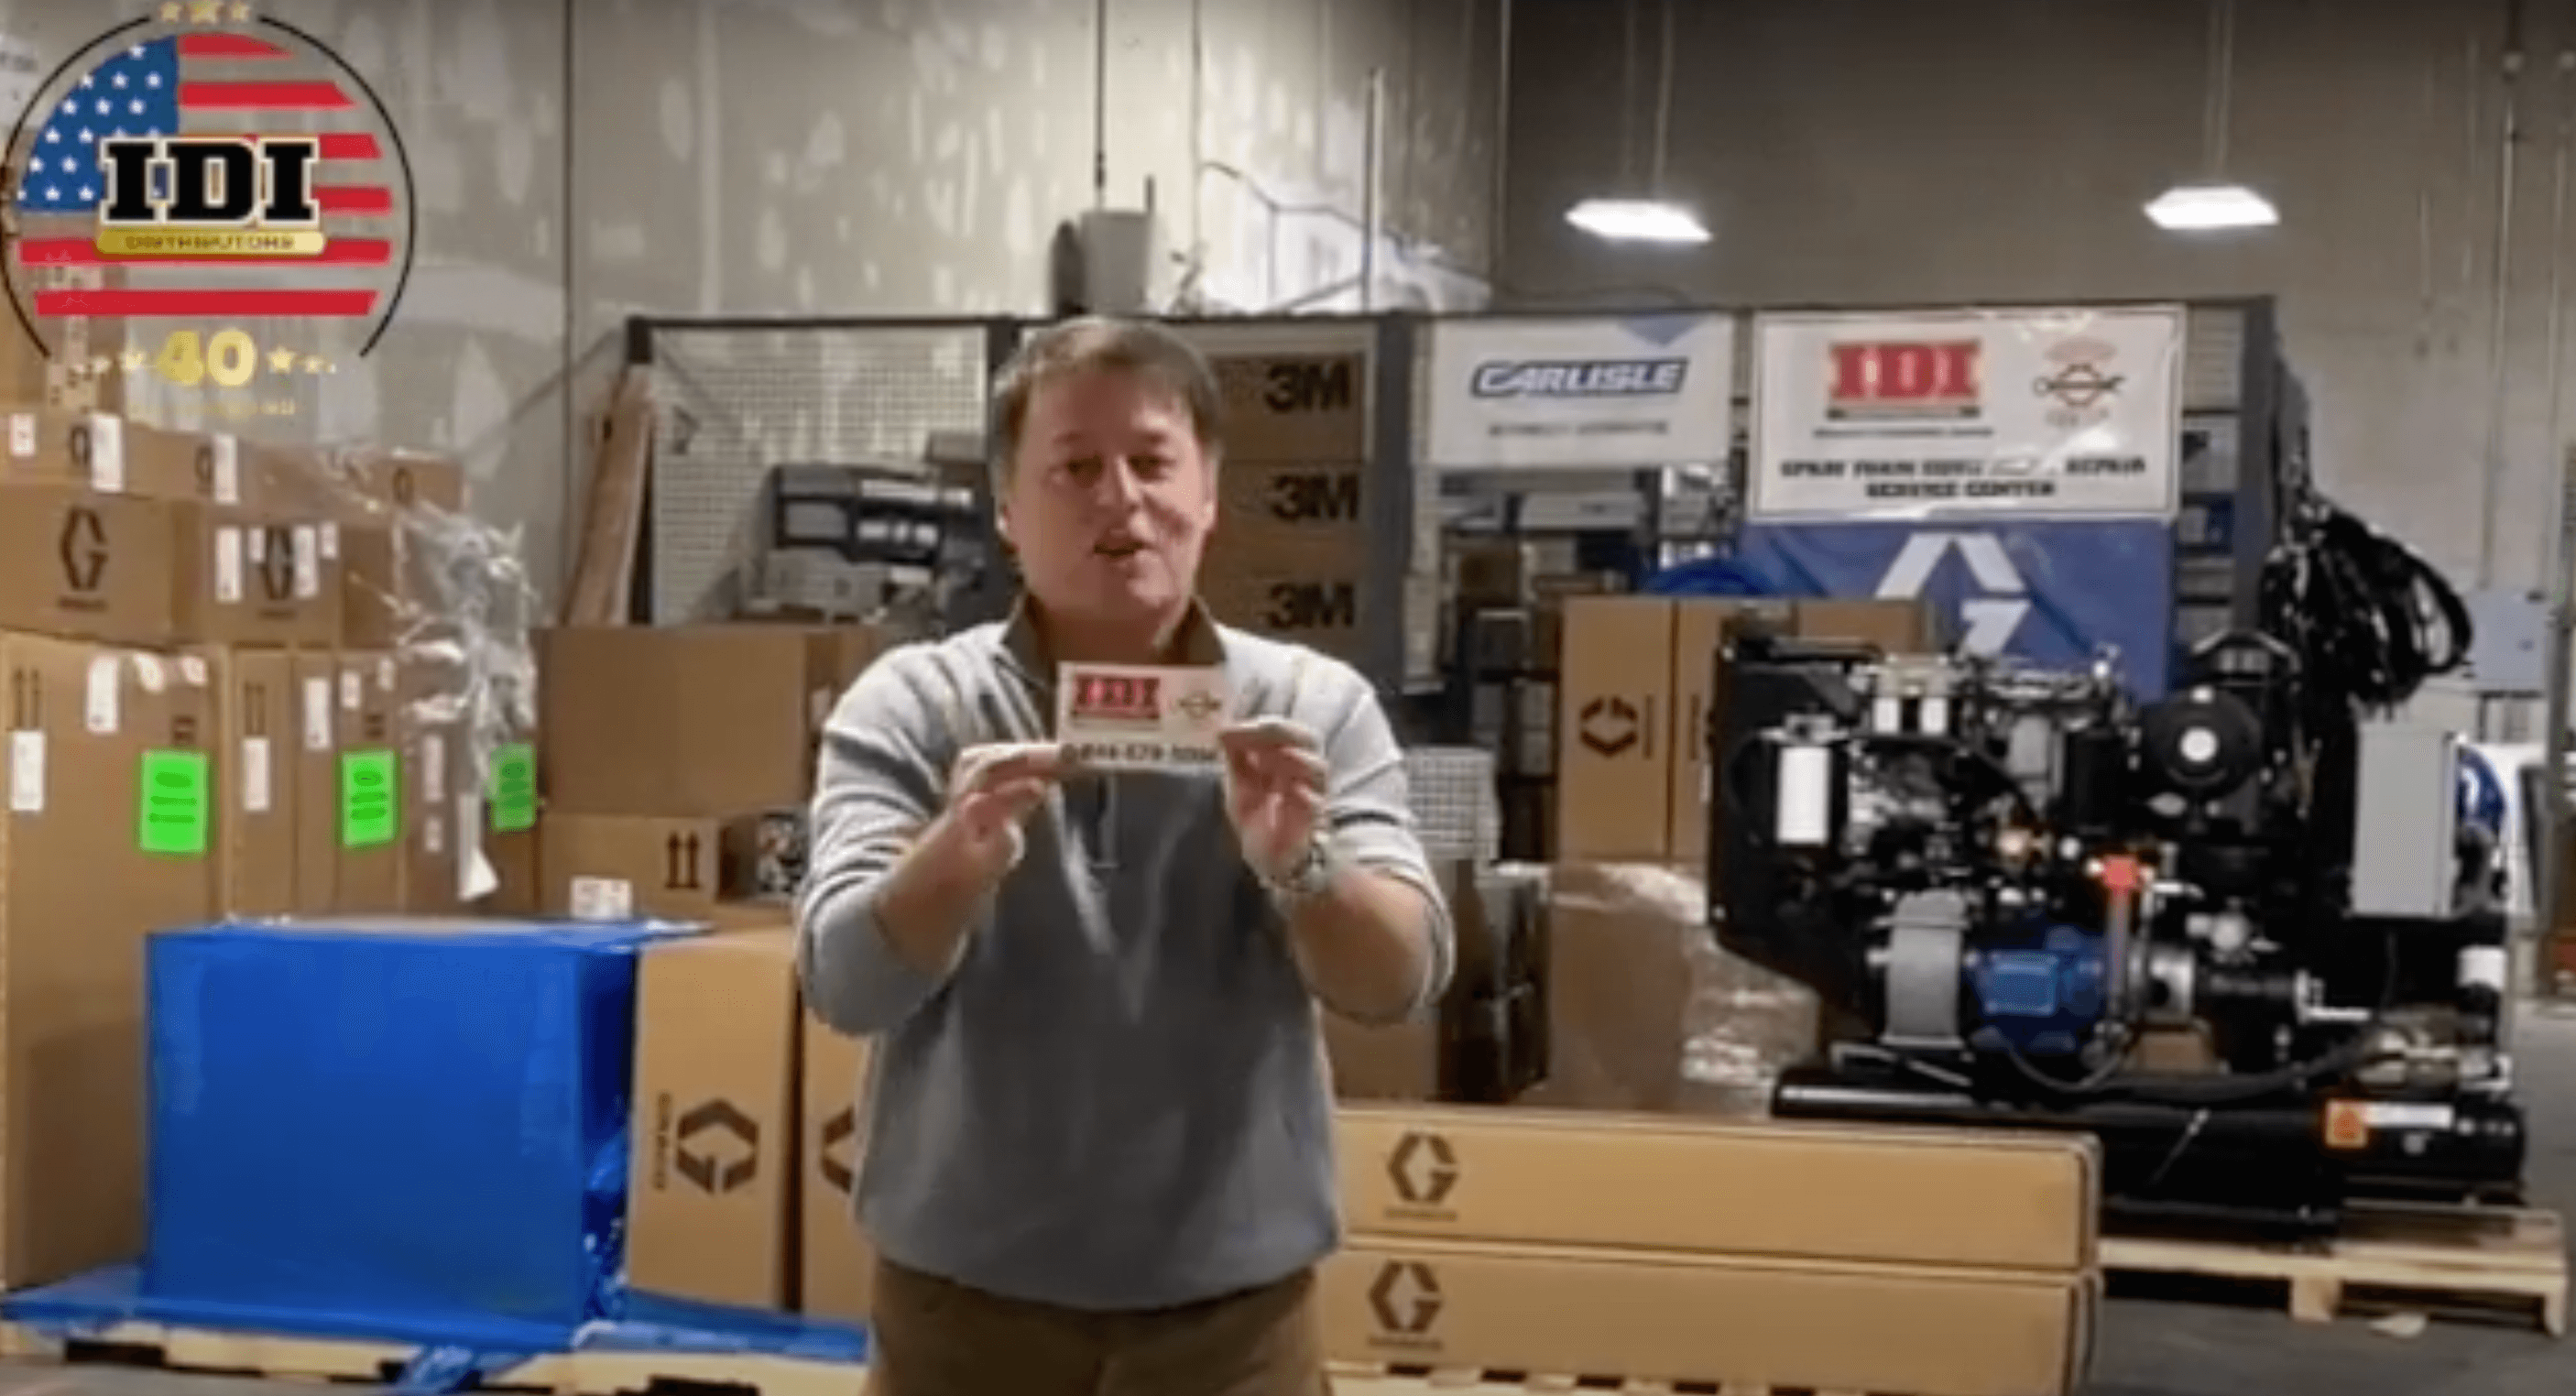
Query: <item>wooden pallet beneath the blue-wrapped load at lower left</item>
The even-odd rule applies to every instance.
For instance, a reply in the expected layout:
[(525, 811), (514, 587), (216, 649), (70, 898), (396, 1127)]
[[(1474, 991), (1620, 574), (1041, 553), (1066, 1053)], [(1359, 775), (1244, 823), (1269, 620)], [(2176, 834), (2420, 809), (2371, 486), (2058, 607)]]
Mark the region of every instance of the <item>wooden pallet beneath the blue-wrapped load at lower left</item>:
[[(399, 1342), (180, 1329), (129, 1321), (77, 1339), (0, 1324), (0, 1357), (28, 1363), (118, 1363), (204, 1375), (263, 1375), (384, 1386), (417, 1355)], [(724, 1386), (760, 1396), (853, 1396), (863, 1368), (762, 1352), (554, 1352), (487, 1375), (479, 1391), (631, 1396)]]

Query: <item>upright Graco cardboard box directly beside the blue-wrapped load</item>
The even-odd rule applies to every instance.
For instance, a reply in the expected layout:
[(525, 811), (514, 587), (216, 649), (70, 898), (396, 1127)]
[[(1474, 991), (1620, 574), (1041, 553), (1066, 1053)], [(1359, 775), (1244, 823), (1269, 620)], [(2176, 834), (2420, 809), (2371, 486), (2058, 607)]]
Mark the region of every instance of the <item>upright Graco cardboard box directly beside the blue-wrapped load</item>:
[(793, 1301), (796, 932), (693, 935), (636, 968), (626, 1280), (639, 1290)]

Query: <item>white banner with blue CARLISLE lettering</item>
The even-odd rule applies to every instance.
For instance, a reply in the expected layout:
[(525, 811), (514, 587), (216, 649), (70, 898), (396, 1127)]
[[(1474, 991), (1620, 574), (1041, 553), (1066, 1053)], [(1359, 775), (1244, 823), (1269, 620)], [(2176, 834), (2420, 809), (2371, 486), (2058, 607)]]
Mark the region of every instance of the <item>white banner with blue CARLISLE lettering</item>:
[(1656, 469), (1723, 461), (1734, 446), (1736, 322), (1435, 319), (1422, 464), (1479, 469)]

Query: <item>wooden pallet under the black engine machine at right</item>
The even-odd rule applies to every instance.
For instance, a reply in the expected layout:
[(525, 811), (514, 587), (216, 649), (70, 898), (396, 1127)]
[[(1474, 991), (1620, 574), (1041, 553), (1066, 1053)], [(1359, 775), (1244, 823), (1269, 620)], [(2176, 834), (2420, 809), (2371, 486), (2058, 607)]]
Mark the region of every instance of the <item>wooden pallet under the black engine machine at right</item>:
[(2282, 1285), (2306, 1324), (2352, 1306), (2535, 1314), (2550, 1337), (2568, 1326), (2568, 1247), (2553, 1211), (2357, 1205), (2334, 1239), (2298, 1247), (2105, 1236), (2102, 1267)]

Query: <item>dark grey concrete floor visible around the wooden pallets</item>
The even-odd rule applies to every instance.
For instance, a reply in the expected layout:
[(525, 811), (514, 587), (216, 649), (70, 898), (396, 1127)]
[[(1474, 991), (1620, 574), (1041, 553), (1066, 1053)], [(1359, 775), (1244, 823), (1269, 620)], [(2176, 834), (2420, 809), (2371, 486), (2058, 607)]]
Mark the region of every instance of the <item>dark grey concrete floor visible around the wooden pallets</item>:
[[(2532, 1113), (2532, 1205), (2576, 1216), (2576, 1010), (2519, 1028)], [(106, 1365), (0, 1363), (0, 1396), (281, 1396), (301, 1383), (188, 1378)], [(2087, 1396), (2566, 1396), (2576, 1337), (2434, 1321), (2411, 1339), (2367, 1321), (2293, 1324), (2259, 1303), (2112, 1301)], [(1901, 1393), (1899, 1393), (1901, 1396)]]

